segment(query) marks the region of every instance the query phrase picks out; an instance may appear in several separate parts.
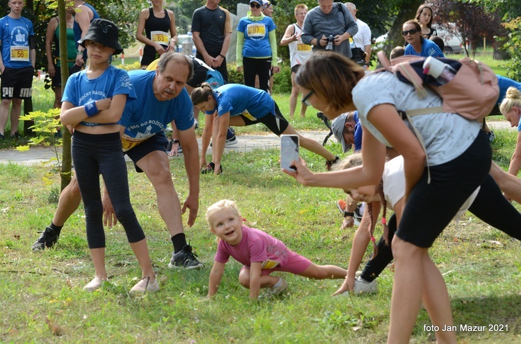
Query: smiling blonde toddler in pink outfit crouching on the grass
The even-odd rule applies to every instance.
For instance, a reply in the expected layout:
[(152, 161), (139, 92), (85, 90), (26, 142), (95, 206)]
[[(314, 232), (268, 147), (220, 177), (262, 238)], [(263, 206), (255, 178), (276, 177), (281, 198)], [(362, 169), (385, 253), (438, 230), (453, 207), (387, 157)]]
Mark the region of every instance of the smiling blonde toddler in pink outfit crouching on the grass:
[(239, 282), (249, 289), (249, 297), (258, 298), (261, 288), (272, 295), (279, 295), (288, 288), (282, 277), (274, 277), (273, 271), (284, 271), (313, 279), (342, 279), (347, 270), (334, 265), (316, 265), (297, 255), (273, 236), (242, 223), (237, 205), (232, 200), (220, 200), (206, 211), (210, 230), (218, 240), (217, 253), (210, 272), (208, 296), (215, 295), (221, 284), (224, 265), (229, 257), (244, 264)]

